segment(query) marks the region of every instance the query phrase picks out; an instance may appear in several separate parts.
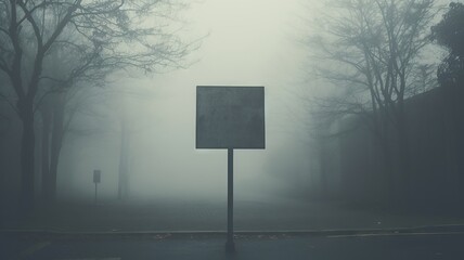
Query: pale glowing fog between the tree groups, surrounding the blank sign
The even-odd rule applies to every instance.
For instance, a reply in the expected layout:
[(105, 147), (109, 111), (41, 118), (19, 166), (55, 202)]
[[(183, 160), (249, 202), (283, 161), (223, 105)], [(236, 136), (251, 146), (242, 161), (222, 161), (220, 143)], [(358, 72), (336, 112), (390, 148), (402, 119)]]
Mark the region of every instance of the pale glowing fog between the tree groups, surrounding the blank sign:
[(183, 69), (114, 76), (111, 86), (89, 90), (93, 101), (72, 123), (81, 131), (64, 143), (59, 196), (92, 199), (92, 173), (100, 169), (100, 196), (116, 198), (125, 121), (129, 198), (225, 199), (227, 151), (195, 150), (196, 86), (266, 88), (266, 150), (234, 152), (235, 196), (291, 190), (311, 167), (300, 134), (306, 110), (295, 94), (305, 58), (301, 6), (298, 0), (205, 0), (182, 12), (183, 37), (202, 38), (199, 49)]

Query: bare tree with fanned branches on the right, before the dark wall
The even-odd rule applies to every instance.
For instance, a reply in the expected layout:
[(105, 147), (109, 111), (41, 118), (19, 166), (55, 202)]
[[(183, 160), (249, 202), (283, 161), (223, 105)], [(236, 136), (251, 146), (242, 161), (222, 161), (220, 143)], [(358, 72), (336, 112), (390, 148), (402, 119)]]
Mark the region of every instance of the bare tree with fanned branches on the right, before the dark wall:
[(392, 160), (402, 177), (409, 169), (404, 100), (436, 86), (430, 80), (436, 65), (423, 58), (434, 0), (343, 0), (326, 8), (332, 15), (323, 14), (319, 32), (307, 41), (317, 75), (336, 86), (318, 100), (319, 118), (369, 119), (391, 187)]

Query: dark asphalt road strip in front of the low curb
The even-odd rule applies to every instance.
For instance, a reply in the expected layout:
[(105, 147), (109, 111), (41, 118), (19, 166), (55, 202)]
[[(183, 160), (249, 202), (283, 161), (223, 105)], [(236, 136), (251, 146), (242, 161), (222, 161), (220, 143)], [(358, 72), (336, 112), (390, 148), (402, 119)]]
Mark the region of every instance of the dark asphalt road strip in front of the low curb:
[[(36, 237), (37, 238), (37, 237)], [(131, 235), (24, 239), (1, 236), (1, 259), (464, 259), (464, 233), (364, 235), (239, 235), (224, 252), (224, 235)]]

